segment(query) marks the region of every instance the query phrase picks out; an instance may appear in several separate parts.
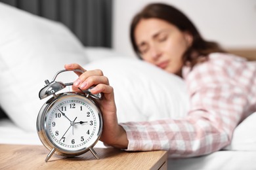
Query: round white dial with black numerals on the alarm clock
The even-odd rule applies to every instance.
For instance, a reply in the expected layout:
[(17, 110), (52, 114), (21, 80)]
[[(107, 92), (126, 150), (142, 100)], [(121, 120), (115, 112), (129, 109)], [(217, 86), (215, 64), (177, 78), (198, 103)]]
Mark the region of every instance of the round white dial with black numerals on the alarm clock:
[(63, 152), (81, 152), (98, 141), (102, 129), (100, 111), (81, 95), (60, 97), (45, 116), (49, 141)]

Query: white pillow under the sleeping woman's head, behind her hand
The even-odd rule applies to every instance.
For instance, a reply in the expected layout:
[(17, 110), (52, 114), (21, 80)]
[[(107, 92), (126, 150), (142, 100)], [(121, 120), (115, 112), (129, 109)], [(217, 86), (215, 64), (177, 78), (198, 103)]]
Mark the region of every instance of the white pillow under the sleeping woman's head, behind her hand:
[(84, 65), (101, 69), (114, 88), (119, 122), (181, 118), (188, 110), (184, 81), (133, 58), (108, 58)]

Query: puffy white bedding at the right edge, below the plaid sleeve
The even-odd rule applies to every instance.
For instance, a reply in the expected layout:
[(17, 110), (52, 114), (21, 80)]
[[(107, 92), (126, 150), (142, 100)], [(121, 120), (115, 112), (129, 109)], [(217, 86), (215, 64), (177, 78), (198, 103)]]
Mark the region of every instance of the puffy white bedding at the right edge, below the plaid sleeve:
[(224, 150), (256, 151), (256, 112), (245, 118), (236, 129), (231, 143)]

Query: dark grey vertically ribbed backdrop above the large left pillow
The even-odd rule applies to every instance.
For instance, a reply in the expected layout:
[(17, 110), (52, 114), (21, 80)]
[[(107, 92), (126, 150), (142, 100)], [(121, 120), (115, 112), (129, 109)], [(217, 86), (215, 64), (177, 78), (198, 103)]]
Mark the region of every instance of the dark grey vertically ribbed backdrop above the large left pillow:
[(112, 47), (112, 0), (0, 0), (62, 22), (84, 46)]

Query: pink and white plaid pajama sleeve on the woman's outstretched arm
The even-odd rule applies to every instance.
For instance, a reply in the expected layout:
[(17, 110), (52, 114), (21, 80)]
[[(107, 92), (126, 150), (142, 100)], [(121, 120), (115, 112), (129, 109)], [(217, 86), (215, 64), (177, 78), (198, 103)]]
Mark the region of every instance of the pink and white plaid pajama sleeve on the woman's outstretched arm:
[(194, 67), (185, 78), (191, 101), (188, 115), (179, 120), (122, 123), (127, 150), (168, 150), (172, 158), (220, 150), (247, 116), (253, 74), (255, 69), (233, 59), (210, 59)]

